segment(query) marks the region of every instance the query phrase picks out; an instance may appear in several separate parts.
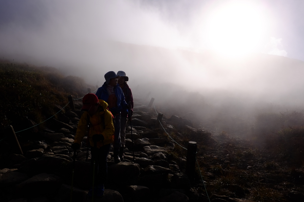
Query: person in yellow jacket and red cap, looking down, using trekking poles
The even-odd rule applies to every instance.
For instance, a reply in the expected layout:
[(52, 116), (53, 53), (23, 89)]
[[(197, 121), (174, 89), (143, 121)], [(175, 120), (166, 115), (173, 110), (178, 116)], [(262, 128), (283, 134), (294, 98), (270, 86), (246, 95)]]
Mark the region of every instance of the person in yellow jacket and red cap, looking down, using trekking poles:
[[(83, 99), (82, 114), (78, 123), (73, 150), (80, 148), (81, 140), (86, 136), (88, 129), (88, 139), (91, 146), (91, 179), (94, 176), (94, 195), (100, 197), (104, 193), (104, 184), (107, 180), (107, 156), (111, 143), (114, 139), (114, 125), (112, 114), (107, 110), (108, 104), (98, 99), (95, 94), (86, 94)], [(89, 127), (89, 128), (88, 128)], [(94, 168), (95, 166), (95, 168)], [(95, 170), (95, 173), (93, 173)], [(89, 197), (92, 197), (93, 187), (89, 190)]]

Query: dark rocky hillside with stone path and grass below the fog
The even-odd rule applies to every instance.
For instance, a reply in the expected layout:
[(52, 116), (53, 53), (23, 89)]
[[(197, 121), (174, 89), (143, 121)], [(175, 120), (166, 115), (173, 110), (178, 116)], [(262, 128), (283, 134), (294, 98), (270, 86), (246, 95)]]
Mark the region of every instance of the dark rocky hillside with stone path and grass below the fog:
[[(64, 77), (50, 67), (7, 61), (1, 65), (4, 115), (0, 141), (1, 199), (70, 200), (73, 156), (70, 146), (82, 104), (81, 99), (74, 100), (76, 109), (72, 110), (67, 105), (67, 95), (76, 99), (84, 96), (88, 87), (95, 88), (78, 77)], [(256, 117), (258, 130), (244, 138), (225, 130), (199, 128), (188, 120), (191, 113), (188, 118), (171, 116), (179, 111), (174, 106), (149, 108), (145, 97), (146, 93), (134, 93), (125, 159), (114, 163), (111, 150), (105, 196), (95, 201), (293, 202), (304, 199), (303, 112), (261, 113)], [(164, 113), (164, 128), (155, 125), (158, 112)], [(4, 126), (11, 124), (18, 132), (44, 120), (47, 121), (43, 124), (16, 133), (24, 155), (16, 148), (12, 136), (2, 139), (9, 134)], [(187, 150), (183, 147), (187, 148), (189, 141), (197, 142), (198, 165), (190, 174), (192, 178), (185, 174)], [(73, 201), (89, 201), (86, 194), (90, 186), (87, 172), (90, 163), (85, 161), (86, 150), (84, 139), (75, 162)]]

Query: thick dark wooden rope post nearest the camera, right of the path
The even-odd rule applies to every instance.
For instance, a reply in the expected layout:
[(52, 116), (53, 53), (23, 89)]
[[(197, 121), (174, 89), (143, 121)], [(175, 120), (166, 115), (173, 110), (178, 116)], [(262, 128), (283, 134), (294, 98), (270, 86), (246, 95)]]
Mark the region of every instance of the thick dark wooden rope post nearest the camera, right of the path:
[(190, 182), (193, 184), (195, 179), (195, 162), (196, 162), (196, 142), (188, 142), (187, 148), (187, 163), (186, 163), (186, 174), (189, 177)]

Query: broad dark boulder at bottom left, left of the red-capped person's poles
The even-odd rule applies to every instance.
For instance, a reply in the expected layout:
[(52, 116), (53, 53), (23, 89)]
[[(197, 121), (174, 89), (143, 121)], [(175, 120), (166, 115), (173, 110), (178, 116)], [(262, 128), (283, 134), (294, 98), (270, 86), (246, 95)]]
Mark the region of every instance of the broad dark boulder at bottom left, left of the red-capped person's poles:
[(61, 185), (61, 178), (54, 174), (40, 173), (16, 186), (16, 191), (21, 196), (51, 196)]

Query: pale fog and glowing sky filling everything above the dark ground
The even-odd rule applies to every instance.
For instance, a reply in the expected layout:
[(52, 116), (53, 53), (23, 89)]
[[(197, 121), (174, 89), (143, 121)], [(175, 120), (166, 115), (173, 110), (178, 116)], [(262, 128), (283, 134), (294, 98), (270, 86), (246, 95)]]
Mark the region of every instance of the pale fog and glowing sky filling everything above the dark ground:
[[(201, 127), (229, 130), (246, 122), (250, 128), (258, 113), (304, 109), (301, 6), (6, 1), (0, 7), (0, 56), (53, 66), (93, 86), (103, 84), (106, 72), (122, 70), (134, 96), (151, 91), (158, 111), (193, 112)], [(238, 15), (230, 16), (234, 11)]]

